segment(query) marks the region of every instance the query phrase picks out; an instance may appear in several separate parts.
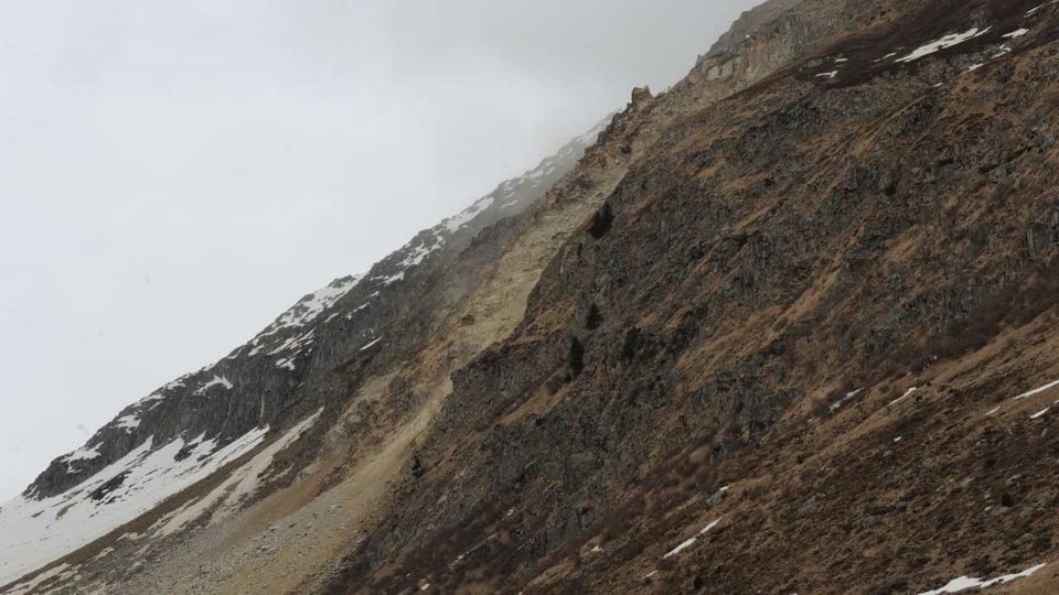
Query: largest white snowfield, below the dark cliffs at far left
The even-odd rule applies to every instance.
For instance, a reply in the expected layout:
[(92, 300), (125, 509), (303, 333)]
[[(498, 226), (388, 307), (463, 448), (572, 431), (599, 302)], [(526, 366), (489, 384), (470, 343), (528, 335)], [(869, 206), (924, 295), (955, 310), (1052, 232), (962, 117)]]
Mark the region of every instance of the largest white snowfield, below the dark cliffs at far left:
[[(152, 450), (149, 437), (69, 490), (35, 500), (18, 496), (0, 508), (0, 585), (94, 541), (256, 447), (258, 428), (223, 448), (214, 440), (178, 437)], [(184, 451), (181, 461), (178, 453)]]

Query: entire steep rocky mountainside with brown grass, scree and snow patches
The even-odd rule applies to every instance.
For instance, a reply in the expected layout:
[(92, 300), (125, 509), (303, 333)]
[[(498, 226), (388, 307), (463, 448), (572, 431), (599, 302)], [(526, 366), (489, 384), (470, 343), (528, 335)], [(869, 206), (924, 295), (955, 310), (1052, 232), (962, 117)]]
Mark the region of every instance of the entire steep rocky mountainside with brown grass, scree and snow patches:
[(53, 462), (0, 592), (1059, 592), (1059, 2), (714, 42)]

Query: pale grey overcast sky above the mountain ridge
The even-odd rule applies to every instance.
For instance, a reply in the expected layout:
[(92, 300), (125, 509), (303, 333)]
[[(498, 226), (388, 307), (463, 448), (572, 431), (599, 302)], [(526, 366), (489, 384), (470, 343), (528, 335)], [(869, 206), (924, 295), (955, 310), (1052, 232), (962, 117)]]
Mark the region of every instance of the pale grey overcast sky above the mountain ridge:
[(755, 3), (4, 0), (0, 504)]

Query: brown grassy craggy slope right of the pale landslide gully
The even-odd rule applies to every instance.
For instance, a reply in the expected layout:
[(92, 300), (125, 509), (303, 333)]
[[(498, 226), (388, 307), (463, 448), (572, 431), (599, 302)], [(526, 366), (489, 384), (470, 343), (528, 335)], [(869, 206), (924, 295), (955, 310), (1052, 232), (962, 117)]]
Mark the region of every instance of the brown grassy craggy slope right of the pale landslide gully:
[[(984, 440), (970, 420), (994, 400), (1056, 374), (1047, 356), (983, 367), (1010, 357), (997, 347), (1009, 339), (1052, 346), (1037, 336), (1055, 305), (1055, 154), (1039, 137), (1055, 105), (1051, 10), (802, 3), (780, 30), (795, 45), (817, 32), (811, 52), (675, 119), (607, 198), (596, 220), (610, 223), (586, 220), (560, 249), (515, 335), (457, 372), (474, 414), (449, 401), (419, 455), (427, 473), (398, 489), (400, 522), (368, 537), (334, 591), (667, 593), (713, 576), (709, 592), (905, 592), (1051, 560), (1055, 453), (1047, 412), (1029, 420), (1047, 403), (1012, 413), (1035, 424), (1012, 428), (1012, 444), (984, 443), (1033, 463), (986, 469), (975, 459), (999, 457), (961, 450)], [(472, 396), (485, 394), (483, 412)], [(831, 442), (809, 433), (822, 420)], [(926, 440), (933, 423), (966, 442)], [(913, 458), (870, 487), (862, 477), (898, 461), (887, 444), (912, 430)], [(859, 440), (816, 454), (848, 433)], [(798, 457), (766, 464), (809, 435)], [(1006, 515), (1015, 476), (1020, 518), (970, 513)], [(939, 478), (981, 486), (966, 517), (933, 496)], [(725, 486), (760, 499), (715, 526), (724, 537), (694, 564), (665, 558), (729, 513), (706, 506)], [(824, 527), (805, 527), (816, 511)], [(940, 528), (959, 544), (928, 541)], [(863, 537), (870, 563), (839, 555)]]

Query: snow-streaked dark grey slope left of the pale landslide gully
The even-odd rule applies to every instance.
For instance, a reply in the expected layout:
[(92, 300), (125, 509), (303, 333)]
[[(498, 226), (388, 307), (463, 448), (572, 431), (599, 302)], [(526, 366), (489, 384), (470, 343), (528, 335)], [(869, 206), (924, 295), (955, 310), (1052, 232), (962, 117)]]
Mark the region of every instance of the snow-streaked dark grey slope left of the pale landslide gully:
[[(306, 295), (226, 358), (129, 405), (85, 446), (55, 459), (22, 497), (0, 509), (0, 583), (145, 512), (160, 517), (160, 510), (173, 506), (160, 506), (167, 498), (204, 479), (215, 483), (211, 476), (256, 469), (238, 486), (225, 482), (221, 491), (180, 507), (174, 511), (179, 520), (162, 516), (153, 527), (157, 536), (196, 521), (196, 515), (212, 507), (237, 509), (240, 498), (261, 487), (258, 484), (284, 479), (282, 472), (269, 478), (257, 474), (322, 411), (334, 413), (342, 407), (336, 394), (343, 386), (332, 370), (421, 343), (421, 328), (438, 323), (431, 312), (411, 314), (420, 310), (419, 296), (443, 284), (448, 295), (432, 293), (443, 309), (446, 300), (458, 301), (464, 291), (442, 272), (445, 266), (483, 228), (539, 201), (601, 127), (420, 232), (368, 273), (335, 280)], [(271, 428), (287, 433), (269, 433)]]

